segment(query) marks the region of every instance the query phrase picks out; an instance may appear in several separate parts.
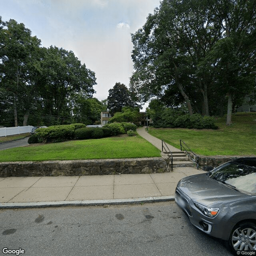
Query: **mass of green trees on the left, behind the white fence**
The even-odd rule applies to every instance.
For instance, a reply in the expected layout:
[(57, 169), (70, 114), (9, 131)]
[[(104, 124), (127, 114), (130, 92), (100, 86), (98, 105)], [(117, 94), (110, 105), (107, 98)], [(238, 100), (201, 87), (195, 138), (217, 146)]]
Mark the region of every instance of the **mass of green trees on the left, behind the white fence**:
[(103, 104), (92, 98), (95, 73), (74, 52), (41, 47), (31, 34), (23, 23), (0, 18), (1, 124), (49, 126), (100, 120)]

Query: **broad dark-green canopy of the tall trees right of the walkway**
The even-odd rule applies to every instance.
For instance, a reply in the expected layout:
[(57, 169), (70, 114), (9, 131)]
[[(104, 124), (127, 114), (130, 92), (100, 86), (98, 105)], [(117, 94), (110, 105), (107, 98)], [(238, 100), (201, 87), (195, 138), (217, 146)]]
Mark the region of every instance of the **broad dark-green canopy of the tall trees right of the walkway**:
[(255, 0), (163, 0), (132, 34), (130, 88), (190, 115), (226, 110), (230, 124), (255, 85), (255, 28)]

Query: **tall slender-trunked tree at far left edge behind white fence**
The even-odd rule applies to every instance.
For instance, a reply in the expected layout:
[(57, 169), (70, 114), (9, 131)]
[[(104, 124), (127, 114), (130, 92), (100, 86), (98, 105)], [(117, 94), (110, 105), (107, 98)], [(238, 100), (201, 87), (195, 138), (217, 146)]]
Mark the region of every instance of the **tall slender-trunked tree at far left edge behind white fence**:
[[(11, 19), (8, 22), (2, 22), (1, 26), (1, 86), (12, 96), (14, 125), (18, 126), (17, 103), (23, 102), (24, 105), (18, 108), (24, 110), (29, 101), (25, 98), (30, 98), (34, 92), (33, 77), (30, 76), (30, 71), (34, 68), (41, 41), (36, 36), (31, 36), (31, 31), (25, 28), (23, 23), (18, 24)], [(25, 94), (24, 91), (26, 91)]]

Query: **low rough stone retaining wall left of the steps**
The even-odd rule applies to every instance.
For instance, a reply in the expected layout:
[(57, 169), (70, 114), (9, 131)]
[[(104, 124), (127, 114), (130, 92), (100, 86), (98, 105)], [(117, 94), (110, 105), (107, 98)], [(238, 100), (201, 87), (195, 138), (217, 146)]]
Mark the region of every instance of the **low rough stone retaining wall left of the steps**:
[(168, 164), (161, 157), (0, 163), (0, 177), (80, 176), (156, 172), (169, 172)]

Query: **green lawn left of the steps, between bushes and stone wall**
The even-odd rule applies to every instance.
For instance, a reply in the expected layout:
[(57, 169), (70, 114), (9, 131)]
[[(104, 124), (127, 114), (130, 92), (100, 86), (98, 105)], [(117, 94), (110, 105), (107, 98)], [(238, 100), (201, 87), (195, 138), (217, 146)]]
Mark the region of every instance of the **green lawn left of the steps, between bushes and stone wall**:
[(136, 137), (109, 137), (95, 140), (71, 140), (49, 144), (31, 144), (0, 152), (0, 162), (80, 160), (160, 157), (160, 150)]

